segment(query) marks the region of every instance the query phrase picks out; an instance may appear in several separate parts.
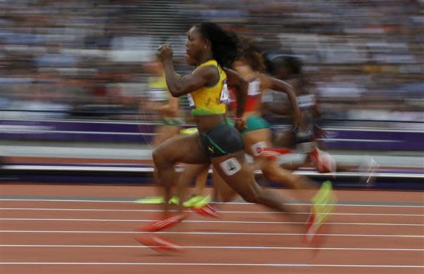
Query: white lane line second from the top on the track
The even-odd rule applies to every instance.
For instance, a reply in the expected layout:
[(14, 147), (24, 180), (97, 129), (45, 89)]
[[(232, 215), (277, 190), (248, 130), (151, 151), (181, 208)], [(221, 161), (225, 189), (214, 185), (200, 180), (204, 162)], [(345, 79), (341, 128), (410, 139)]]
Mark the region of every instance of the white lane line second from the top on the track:
[[(104, 211), (104, 212), (162, 212), (159, 209), (57, 209), (57, 208), (21, 208), (21, 207), (0, 207), (0, 210), (16, 210), (16, 211)], [(170, 210), (176, 212), (176, 210)], [(184, 212), (193, 212), (191, 210), (184, 210)], [(225, 214), (285, 214), (285, 212), (274, 211), (222, 211), (217, 210), (219, 213)], [(311, 214), (310, 212), (297, 212), (296, 214)], [(333, 212), (331, 215), (352, 215), (352, 216), (424, 216), (424, 214), (374, 214), (374, 213), (340, 213)]]

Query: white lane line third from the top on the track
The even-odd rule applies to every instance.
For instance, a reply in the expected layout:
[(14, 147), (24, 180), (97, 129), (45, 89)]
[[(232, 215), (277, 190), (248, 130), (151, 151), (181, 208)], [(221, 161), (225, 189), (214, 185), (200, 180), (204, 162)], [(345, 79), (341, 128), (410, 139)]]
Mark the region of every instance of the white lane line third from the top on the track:
[[(0, 221), (88, 221), (88, 222), (153, 222), (160, 220), (150, 219), (103, 219), (103, 218), (0, 218)], [(257, 224), (302, 224), (304, 222), (283, 221), (217, 221), (217, 220), (184, 220), (183, 223), (257, 223)], [(329, 222), (330, 225), (352, 226), (424, 226), (424, 223), (338, 223)]]

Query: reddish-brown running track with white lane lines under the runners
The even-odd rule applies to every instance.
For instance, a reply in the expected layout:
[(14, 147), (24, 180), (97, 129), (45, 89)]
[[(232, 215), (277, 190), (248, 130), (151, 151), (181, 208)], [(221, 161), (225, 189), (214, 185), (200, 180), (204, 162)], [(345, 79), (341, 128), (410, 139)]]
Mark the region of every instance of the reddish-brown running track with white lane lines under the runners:
[(317, 254), (302, 226), (255, 204), (218, 204), (221, 219), (191, 214), (161, 233), (185, 251), (158, 254), (134, 240), (160, 212), (131, 202), (154, 195), (151, 187), (2, 184), (0, 193), (0, 273), (424, 272), (419, 192), (337, 191)]

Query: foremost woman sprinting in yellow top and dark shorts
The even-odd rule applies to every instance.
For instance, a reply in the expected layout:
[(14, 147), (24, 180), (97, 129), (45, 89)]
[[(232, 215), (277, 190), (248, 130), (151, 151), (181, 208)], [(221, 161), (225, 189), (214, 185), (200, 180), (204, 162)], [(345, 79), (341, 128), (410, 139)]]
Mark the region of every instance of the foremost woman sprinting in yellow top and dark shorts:
[[(230, 67), (238, 54), (236, 35), (222, 30), (212, 22), (200, 23), (188, 32), (186, 53), (195, 60), (198, 67), (193, 74), (179, 77), (172, 63), (171, 47), (162, 45), (158, 52), (165, 67), (167, 86), (172, 96), (179, 97), (191, 93), (192, 114), (195, 116), (195, 124), (198, 128), (197, 134), (176, 136), (153, 151), (153, 161), (158, 169), (160, 185), (165, 190), (164, 213), (168, 212), (167, 201), (171, 197), (171, 189), (176, 181), (175, 164), (177, 162), (212, 163), (217, 173), (244, 200), (263, 204), (280, 212), (290, 212), (292, 213), (290, 216), (302, 226), (307, 221), (305, 216), (298, 214), (302, 209), (291, 206), (291, 202), (286, 197), (278, 195), (273, 190), (261, 188), (255, 181), (253, 170), (245, 160), (243, 138), (237, 129), (245, 128), (242, 115), (248, 84), (236, 72), (231, 70), (224, 72), (222, 69), (223, 66)], [(209, 62), (210, 60), (212, 62)], [(225, 76), (228, 78), (226, 79)], [(238, 101), (236, 128), (225, 122), (223, 100), (226, 100), (228, 96), (225, 79), (238, 91), (236, 93)], [(185, 218), (184, 214), (177, 214), (163, 221), (150, 223), (141, 229), (143, 231), (161, 230), (183, 218)], [(150, 246), (177, 248), (175, 244), (158, 238), (157, 235), (148, 239), (136, 237), (139, 242)]]

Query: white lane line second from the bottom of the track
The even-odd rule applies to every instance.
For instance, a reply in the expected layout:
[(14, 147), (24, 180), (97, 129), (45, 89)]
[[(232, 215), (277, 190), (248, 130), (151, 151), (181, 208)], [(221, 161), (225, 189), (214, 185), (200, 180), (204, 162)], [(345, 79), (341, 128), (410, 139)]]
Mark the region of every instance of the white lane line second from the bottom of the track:
[[(86, 244), (0, 244), (0, 247), (78, 247), (78, 248), (151, 248), (159, 246), (146, 245), (86, 245)], [(283, 250), (355, 250), (355, 251), (394, 251), (424, 252), (424, 249), (406, 248), (361, 248), (361, 247), (248, 247), (248, 246), (181, 246), (185, 249), (283, 249)]]

